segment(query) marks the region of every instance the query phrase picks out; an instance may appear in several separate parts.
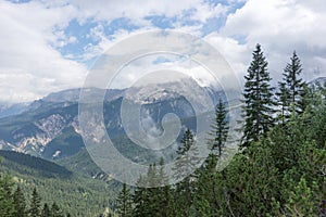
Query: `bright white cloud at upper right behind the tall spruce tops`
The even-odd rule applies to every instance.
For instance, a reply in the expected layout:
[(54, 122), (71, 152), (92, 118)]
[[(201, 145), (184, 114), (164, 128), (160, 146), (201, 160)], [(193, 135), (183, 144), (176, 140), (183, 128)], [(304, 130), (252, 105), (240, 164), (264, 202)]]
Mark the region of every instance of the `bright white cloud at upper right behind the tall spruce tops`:
[(305, 69), (303, 77), (311, 79), (316, 76), (313, 72), (326, 72), (326, 26), (322, 25), (326, 14), (321, 4), (304, 0), (249, 0), (228, 16), (221, 33), (244, 37), (252, 50), (261, 43), (274, 77), (280, 75), (297, 50)]

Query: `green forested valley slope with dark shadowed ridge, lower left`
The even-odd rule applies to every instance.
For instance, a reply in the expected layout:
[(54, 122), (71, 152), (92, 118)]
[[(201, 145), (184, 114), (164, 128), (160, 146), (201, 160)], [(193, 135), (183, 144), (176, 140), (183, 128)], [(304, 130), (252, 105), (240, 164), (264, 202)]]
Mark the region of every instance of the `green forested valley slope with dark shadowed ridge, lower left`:
[[(5, 210), (8, 205), (4, 199), (13, 196), (17, 187), (22, 190), (26, 212), (30, 208), (34, 189), (37, 190), (41, 201), (40, 209), (45, 203), (49, 207), (55, 203), (62, 215), (97, 216), (113, 205), (114, 192), (109, 182), (70, 171), (52, 162), (22, 153), (0, 151), (0, 216), (11, 216)], [(7, 188), (10, 192), (5, 193), (8, 195), (3, 199), (2, 191)]]

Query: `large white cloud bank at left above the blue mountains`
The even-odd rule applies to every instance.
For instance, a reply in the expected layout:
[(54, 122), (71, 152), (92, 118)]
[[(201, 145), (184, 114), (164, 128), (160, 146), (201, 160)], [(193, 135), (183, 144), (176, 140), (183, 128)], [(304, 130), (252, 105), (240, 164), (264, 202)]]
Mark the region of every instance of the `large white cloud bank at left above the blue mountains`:
[[(72, 7), (2, 1), (0, 11), (0, 101), (30, 101), (83, 84), (85, 66), (65, 60), (51, 47), (60, 47), (60, 28), (75, 13)], [(74, 42), (74, 38), (66, 40)]]

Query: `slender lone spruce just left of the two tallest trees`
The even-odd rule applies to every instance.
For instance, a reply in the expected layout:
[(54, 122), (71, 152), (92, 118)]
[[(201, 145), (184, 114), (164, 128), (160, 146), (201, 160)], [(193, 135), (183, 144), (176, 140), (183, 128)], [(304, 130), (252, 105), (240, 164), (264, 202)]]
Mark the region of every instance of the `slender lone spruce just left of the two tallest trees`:
[(210, 149), (217, 156), (222, 155), (222, 149), (227, 139), (228, 133), (228, 122), (226, 119), (227, 111), (224, 103), (220, 99), (215, 107), (215, 117), (213, 124), (211, 125), (211, 132), (209, 133), (212, 139), (209, 140)]

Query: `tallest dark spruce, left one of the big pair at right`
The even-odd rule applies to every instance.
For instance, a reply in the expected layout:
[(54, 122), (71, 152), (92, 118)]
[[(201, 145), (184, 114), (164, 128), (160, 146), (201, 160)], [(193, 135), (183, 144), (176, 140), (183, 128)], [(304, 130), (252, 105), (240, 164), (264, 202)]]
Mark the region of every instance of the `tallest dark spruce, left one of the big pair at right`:
[(273, 126), (273, 90), (267, 71), (267, 61), (260, 44), (253, 51), (253, 60), (244, 76), (244, 92), (242, 117), (244, 118), (241, 146), (247, 148), (258, 141), (260, 136), (266, 136)]

